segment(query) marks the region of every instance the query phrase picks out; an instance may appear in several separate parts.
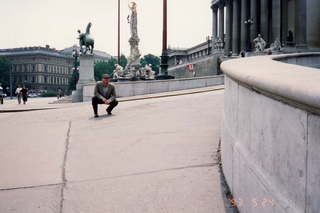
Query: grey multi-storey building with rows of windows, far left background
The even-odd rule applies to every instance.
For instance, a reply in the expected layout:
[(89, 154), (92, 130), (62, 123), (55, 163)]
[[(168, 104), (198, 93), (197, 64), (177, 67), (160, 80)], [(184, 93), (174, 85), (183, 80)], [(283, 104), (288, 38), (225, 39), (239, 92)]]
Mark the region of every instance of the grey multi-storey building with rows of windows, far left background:
[(73, 58), (46, 47), (0, 50), (12, 63), (13, 88), (27, 85), (29, 89), (68, 90), (73, 72)]

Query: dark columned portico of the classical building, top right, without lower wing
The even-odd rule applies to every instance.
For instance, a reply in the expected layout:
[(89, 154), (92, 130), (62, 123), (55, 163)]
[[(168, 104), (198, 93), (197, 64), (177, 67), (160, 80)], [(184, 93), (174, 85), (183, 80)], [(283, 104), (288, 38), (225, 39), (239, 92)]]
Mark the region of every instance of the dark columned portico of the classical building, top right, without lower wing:
[(213, 0), (212, 36), (234, 55), (251, 51), (258, 34), (267, 47), (279, 40), (293, 51), (320, 48), (319, 8), (319, 0)]

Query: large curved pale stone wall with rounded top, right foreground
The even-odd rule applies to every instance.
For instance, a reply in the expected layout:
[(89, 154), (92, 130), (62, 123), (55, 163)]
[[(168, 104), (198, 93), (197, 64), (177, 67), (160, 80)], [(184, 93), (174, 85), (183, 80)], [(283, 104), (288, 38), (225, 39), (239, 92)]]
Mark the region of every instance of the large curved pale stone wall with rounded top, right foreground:
[(317, 57), (258, 56), (221, 66), (223, 171), (240, 212), (319, 212), (320, 70), (288, 64)]

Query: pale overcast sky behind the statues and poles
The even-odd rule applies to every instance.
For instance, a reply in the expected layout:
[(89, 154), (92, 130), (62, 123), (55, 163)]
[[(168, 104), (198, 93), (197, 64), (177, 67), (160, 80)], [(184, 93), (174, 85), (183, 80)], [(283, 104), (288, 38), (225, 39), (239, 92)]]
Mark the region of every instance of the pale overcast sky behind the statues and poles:
[[(91, 34), (97, 50), (117, 54), (117, 0), (1, 0), (0, 48), (45, 46), (63, 49), (76, 44), (77, 29)], [(128, 55), (128, 0), (121, 0), (121, 52)], [(162, 0), (136, 0), (142, 55), (160, 55)], [(191, 47), (211, 34), (211, 0), (168, 0), (168, 43)]]

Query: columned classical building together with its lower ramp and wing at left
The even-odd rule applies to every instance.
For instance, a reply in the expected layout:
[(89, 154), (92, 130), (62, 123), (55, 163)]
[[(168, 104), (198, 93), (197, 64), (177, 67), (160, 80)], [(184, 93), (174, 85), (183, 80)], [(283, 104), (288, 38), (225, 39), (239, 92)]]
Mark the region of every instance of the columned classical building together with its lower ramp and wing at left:
[[(240, 53), (256, 55), (254, 39), (260, 34), (272, 54), (320, 50), (319, 0), (212, 0), (212, 37), (185, 50), (169, 52), (168, 72), (176, 78), (220, 73), (220, 63), (239, 57)], [(210, 42), (211, 41), (211, 42)], [(210, 56), (208, 56), (210, 52)]]

